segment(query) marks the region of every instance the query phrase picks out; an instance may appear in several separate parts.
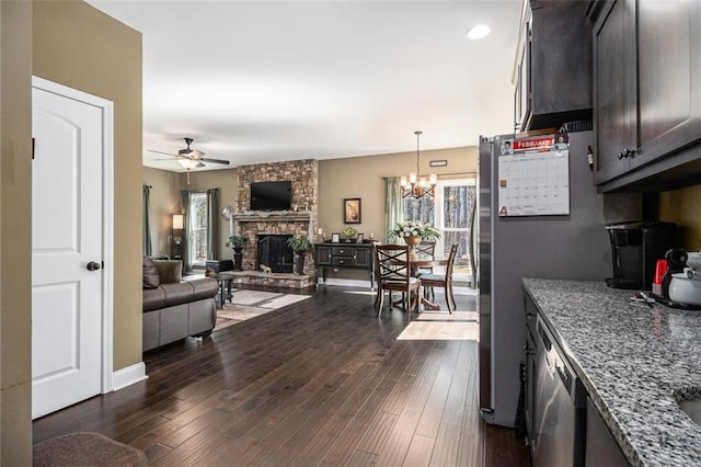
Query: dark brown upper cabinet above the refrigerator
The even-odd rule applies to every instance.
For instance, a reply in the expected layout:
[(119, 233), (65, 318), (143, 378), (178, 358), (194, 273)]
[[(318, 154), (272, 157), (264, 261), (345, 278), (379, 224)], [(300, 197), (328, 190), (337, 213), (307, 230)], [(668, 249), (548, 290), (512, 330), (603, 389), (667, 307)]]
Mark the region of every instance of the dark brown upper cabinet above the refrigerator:
[(589, 1), (531, 0), (518, 54), (516, 130), (591, 119)]

